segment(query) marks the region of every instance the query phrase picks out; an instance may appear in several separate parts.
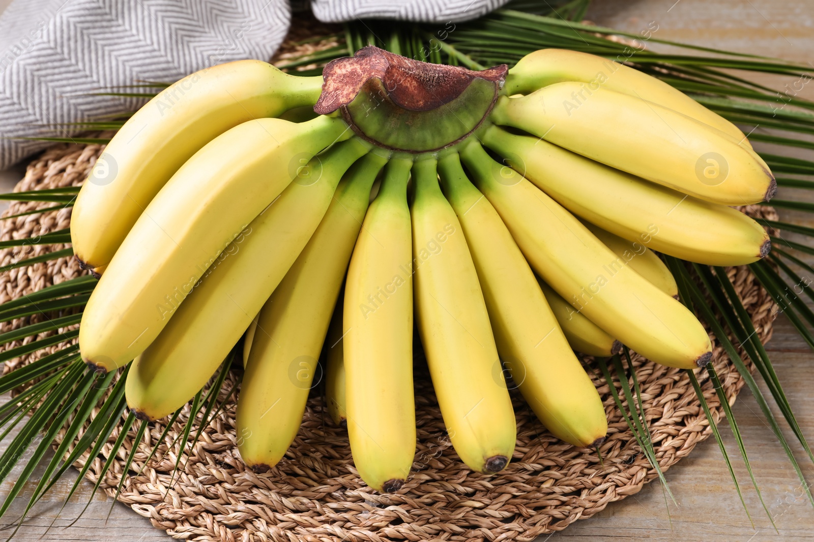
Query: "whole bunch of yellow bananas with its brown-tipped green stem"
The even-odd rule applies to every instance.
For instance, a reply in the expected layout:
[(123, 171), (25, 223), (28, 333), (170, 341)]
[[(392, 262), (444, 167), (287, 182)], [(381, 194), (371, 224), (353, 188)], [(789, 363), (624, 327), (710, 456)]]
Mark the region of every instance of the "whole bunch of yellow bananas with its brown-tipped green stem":
[(606, 414), (574, 350), (710, 361), (654, 251), (763, 258), (766, 232), (731, 206), (775, 191), (733, 124), (589, 54), (473, 72), (367, 47), (322, 77), (227, 63), (142, 107), (85, 181), (72, 243), (100, 278), (81, 354), (134, 360), (128, 404), (157, 419), (243, 337), (239, 451), (264, 471), (326, 343), (330, 414), (361, 479), (393, 492), (416, 449), (415, 314), (455, 451), (495, 473), (508, 375), (554, 436), (597, 446)]

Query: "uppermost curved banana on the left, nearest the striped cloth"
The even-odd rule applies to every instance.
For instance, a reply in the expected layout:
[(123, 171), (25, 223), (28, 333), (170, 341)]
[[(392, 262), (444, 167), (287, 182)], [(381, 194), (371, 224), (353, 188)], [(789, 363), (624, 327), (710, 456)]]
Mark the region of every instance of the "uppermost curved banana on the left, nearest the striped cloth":
[(71, 216), (76, 258), (88, 268), (106, 265), (155, 194), (201, 147), (238, 124), (313, 105), (321, 89), (322, 77), (239, 60), (161, 91), (116, 132), (85, 180)]

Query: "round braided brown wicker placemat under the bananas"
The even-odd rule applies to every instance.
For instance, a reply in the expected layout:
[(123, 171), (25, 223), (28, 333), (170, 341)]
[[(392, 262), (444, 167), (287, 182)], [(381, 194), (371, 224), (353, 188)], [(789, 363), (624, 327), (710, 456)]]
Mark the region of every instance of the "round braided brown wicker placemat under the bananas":
[[(101, 150), (100, 145), (55, 145), (28, 166), (17, 189), (80, 184)], [(5, 216), (52, 205), (15, 202)], [(753, 207), (747, 212), (767, 218), (775, 215), (768, 207)], [(66, 209), (4, 220), (0, 239), (68, 228), (69, 218), (70, 210)], [(61, 248), (37, 245), (28, 247), (25, 254)], [(0, 265), (16, 261), (21, 254), (21, 249), (0, 251)], [(68, 258), (16, 269), (0, 276), (0, 301), (80, 274), (75, 262)], [(730, 269), (729, 277), (765, 342), (772, 333), (772, 301), (746, 267)], [(29, 321), (7, 323), (0, 331)], [(33, 338), (23, 342), (30, 340)], [(263, 475), (245, 469), (235, 447), (241, 438), (235, 434), (235, 397), (225, 398), (221, 391), (224, 408), (204, 427), (193, 449), (177, 441), (189, 416), (189, 405), (147, 465), (147, 456), (166, 421), (151, 423), (138, 443), (133, 443), (134, 429), (130, 431), (124, 450), (129, 452), (136, 444), (137, 452), (119, 500), (150, 518), (155, 527), (186, 540), (527, 541), (561, 530), (577, 519), (589, 518), (655, 478), (592, 358), (584, 360), (585, 366), (602, 394), (610, 422), (608, 439), (602, 444), (602, 463), (594, 450), (575, 448), (549, 435), (519, 393), (512, 390), (518, 425), (512, 462), (499, 475), (472, 473), (460, 462), (445, 436), (420, 348), (417, 352), (418, 451), (409, 482), (395, 495), (380, 494), (361, 482), (353, 467), (347, 433), (330, 421), (318, 393), (309, 400), (300, 434), (278, 466)], [(12, 360), (5, 371), (31, 358)], [(707, 419), (684, 371), (639, 356), (633, 362), (656, 456), (666, 470), (710, 435)], [(743, 380), (719, 345), (714, 364), (732, 403)], [(237, 382), (239, 371), (233, 369), (224, 390)], [(707, 373), (696, 372), (717, 420), (721, 417), (720, 403)], [(618, 381), (615, 386), (619, 388)], [(198, 424), (201, 422), (198, 418)], [(197, 431), (196, 426), (193, 431)], [(88, 475), (91, 480), (98, 477), (116, 436), (118, 431), (114, 431), (103, 453), (92, 459)], [(173, 477), (182, 448), (189, 454), (188, 459), (182, 459), (182, 469)], [(87, 460), (87, 456), (82, 458), (82, 462)], [(120, 451), (103, 480), (102, 487), (108, 494), (115, 494), (124, 460), (125, 451)]]

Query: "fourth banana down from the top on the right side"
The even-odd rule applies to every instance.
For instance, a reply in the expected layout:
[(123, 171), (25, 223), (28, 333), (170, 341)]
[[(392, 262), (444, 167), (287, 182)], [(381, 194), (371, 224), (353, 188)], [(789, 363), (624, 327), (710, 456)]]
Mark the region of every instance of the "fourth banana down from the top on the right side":
[(578, 219), (477, 141), (461, 150), (475, 184), (509, 228), (532, 268), (610, 336), (646, 358), (684, 369), (711, 357), (707, 332), (676, 299), (620, 263)]

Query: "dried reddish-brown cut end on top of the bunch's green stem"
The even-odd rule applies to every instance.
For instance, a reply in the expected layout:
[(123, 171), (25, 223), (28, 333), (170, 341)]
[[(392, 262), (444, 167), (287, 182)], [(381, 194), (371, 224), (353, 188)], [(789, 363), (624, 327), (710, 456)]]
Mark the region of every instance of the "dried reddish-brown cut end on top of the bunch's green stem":
[(371, 79), (382, 81), (388, 97), (409, 111), (431, 111), (452, 102), (477, 78), (505, 80), (505, 64), (475, 72), (463, 67), (431, 64), (366, 46), (352, 57), (331, 60), (322, 70), (322, 93), (313, 106), (327, 115), (346, 106)]

